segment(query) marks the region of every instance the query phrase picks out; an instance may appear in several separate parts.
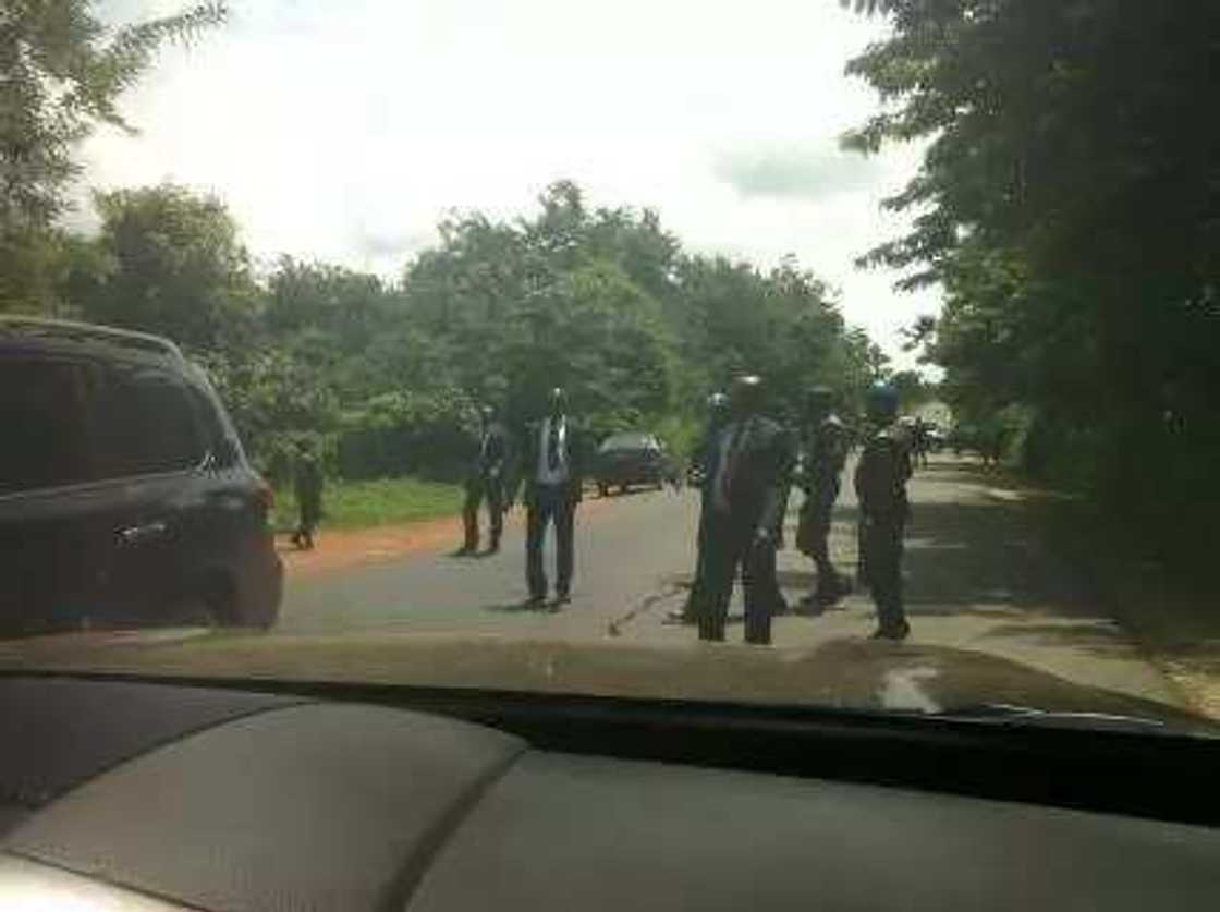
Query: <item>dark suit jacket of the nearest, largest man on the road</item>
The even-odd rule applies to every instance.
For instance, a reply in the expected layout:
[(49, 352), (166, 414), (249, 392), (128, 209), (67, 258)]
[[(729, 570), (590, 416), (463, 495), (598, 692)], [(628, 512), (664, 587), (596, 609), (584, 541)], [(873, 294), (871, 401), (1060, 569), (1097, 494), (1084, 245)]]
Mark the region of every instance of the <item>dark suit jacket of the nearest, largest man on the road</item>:
[[(734, 521), (764, 529), (778, 529), (788, 499), (793, 464), (793, 446), (788, 432), (771, 419), (755, 415), (747, 419), (748, 431), (738, 443), (736, 470), (728, 496), (728, 515)], [(721, 461), (737, 432), (732, 421), (716, 435), (706, 453), (706, 497), (712, 510), (720, 510), (716, 492)]]

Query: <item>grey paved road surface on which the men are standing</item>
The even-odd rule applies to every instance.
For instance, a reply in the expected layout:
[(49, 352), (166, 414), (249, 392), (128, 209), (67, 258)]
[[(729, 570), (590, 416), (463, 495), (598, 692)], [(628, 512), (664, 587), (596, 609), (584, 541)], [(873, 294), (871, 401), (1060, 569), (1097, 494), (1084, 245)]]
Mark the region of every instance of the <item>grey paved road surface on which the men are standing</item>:
[[(844, 485), (832, 535), (836, 563), (844, 570), (855, 565), (849, 488)], [(1041, 546), (1022, 494), (998, 487), (969, 463), (948, 459), (920, 470), (910, 490), (915, 521), (905, 571), (914, 634), (900, 648), (999, 657), (1070, 682), (1180, 702), (1168, 679), (1077, 584), (1071, 569)], [(798, 502), (794, 496), (789, 542)], [(667, 623), (666, 613), (681, 604), (683, 584), (689, 582), (697, 510), (694, 493), (670, 491), (582, 504), (573, 601), (555, 614), (521, 609), (523, 542), (520, 524), (512, 523), (504, 549), (494, 557), (421, 553), (289, 581), (281, 629), (460, 631), (681, 646), (694, 632)], [(795, 603), (813, 585), (809, 562), (789, 549), (780, 568), (781, 586)], [(871, 603), (854, 595), (820, 617), (776, 619), (775, 642), (860, 642), (874, 623)], [(739, 631), (731, 626), (730, 639), (739, 639)], [(910, 703), (919, 708), (917, 686), (911, 687)]]

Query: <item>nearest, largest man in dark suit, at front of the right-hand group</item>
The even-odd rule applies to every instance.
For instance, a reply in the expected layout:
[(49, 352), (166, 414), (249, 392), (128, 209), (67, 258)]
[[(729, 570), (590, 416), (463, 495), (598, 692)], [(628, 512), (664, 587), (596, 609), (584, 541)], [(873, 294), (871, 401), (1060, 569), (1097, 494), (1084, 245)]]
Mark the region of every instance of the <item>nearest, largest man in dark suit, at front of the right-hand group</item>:
[(745, 591), (745, 642), (771, 642), (776, 608), (776, 530), (792, 469), (787, 432), (760, 414), (762, 383), (738, 377), (730, 398), (732, 420), (708, 458), (708, 508), (703, 542), (706, 596), (699, 599), (699, 637), (723, 640), (737, 568)]

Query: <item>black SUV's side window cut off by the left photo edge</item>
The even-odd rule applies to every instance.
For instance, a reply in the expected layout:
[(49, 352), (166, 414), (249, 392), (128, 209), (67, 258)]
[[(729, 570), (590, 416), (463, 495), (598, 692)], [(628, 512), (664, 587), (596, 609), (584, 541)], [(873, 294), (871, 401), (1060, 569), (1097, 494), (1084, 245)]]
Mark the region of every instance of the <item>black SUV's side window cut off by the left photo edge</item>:
[(96, 374), (56, 359), (0, 360), (0, 494), (92, 481)]

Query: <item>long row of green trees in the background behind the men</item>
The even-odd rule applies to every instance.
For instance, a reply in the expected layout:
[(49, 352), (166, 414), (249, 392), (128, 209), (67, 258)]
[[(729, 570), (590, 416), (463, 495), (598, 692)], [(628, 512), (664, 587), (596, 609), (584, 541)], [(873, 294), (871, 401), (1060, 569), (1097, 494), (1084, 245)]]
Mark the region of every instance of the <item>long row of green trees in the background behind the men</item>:
[(95, 204), (100, 236), (65, 254), (65, 306), (184, 343), (281, 483), (303, 443), (345, 479), (456, 480), (479, 403), (520, 427), (554, 386), (594, 435), (650, 430), (683, 454), (737, 371), (794, 418), (810, 385), (850, 403), (884, 367), (794, 261), (683, 254), (655, 214), (589, 210), (566, 182), (532, 219), (450, 219), (396, 283), (292, 258), (256, 282), (223, 204), (181, 187)]

